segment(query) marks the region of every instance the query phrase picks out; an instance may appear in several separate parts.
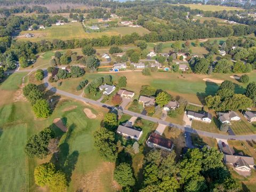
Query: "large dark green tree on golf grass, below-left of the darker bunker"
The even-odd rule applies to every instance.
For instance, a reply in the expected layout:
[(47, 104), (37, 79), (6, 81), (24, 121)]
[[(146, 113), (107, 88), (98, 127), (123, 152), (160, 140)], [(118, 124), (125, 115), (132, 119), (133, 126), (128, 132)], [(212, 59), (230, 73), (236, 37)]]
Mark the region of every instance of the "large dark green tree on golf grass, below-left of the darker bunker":
[(54, 138), (54, 131), (47, 127), (43, 131), (31, 136), (26, 143), (25, 152), (29, 157), (43, 158), (49, 154), (48, 145)]

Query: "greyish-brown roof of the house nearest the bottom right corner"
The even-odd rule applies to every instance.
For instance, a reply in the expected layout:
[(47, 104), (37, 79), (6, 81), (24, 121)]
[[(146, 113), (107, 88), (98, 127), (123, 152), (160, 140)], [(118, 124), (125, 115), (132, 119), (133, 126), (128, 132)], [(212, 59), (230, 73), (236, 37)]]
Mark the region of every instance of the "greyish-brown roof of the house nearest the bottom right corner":
[(226, 163), (236, 164), (236, 166), (238, 166), (238, 164), (239, 164), (239, 166), (243, 166), (243, 165), (253, 166), (254, 165), (253, 157), (224, 154), (223, 158)]

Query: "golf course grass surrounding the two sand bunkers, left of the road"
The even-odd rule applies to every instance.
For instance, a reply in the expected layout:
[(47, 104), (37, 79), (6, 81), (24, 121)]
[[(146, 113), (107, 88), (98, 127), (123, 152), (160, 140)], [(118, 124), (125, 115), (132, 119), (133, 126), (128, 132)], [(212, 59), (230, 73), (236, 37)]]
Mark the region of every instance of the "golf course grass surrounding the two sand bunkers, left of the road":
[[(13, 99), (13, 93), (20, 89), (8, 90), (6, 87), (19, 87), (20, 79), (25, 74), (13, 74), (0, 85), (3, 98), (8, 96)], [(90, 108), (97, 118), (87, 118), (83, 112), (85, 107)], [(93, 191), (116, 190), (113, 189), (114, 164), (103, 162), (93, 146), (93, 133), (98, 129), (103, 115), (107, 112), (105, 109), (98, 111), (97, 107), (85, 106), (82, 102), (61, 98), (51, 117), (36, 119), (27, 101), (1, 102), (0, 149), (5, 153), (0, 157), (0, 183), (4, 183), (0, 185), (0, 190), (45, 191), (45, 189), (36, 187), (34, 183), (34, 168), (37, 164), (49, 162), (52, 156), (49, 155), (43, 160), (31, 159), (26, 156), (23, 149), (31, 135), (48, 126), (51, 126), (61, 137), (59, 162), (55, 164), (71, 177), (68, 191), (82, 188)], [(69, 131), (63, 134), (53, 124), (54, 118), (61, 118)], [(6, 143), (11, 143), (11, 145), (6, 145)], [(65, 163), (68, 161), (71, 163)]]

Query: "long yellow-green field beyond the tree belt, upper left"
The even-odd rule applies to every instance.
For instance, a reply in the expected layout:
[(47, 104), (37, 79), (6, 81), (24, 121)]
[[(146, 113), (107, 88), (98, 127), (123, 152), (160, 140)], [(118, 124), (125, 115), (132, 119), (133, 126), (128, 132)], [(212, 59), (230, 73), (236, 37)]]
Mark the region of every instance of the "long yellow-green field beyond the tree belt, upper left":
[[(138, 33), (139, 35), (147, 34), (149, 31), (143, 27), (118, 27), (112, 28), (103, 32), (93, 32), (86, 33), (82, 27), (82, 24), (79, 22), (67, 23), (63, 26), (51, 26), (44, 30), (35, 30), (35, 31), (21, 31), (20, 36), (17, 37), (19, 41), (31, 41), (37, 42), (43, 39), (52, 40), (52, 39), (73, 39), (73, 38), (97, 38), (103, 35), (113, 36), (113, 35), (127, 35), (132, 33)], [(31, 38), (26, 38), (22, 35), (27, 33), (32, 33), (35, 36)]]

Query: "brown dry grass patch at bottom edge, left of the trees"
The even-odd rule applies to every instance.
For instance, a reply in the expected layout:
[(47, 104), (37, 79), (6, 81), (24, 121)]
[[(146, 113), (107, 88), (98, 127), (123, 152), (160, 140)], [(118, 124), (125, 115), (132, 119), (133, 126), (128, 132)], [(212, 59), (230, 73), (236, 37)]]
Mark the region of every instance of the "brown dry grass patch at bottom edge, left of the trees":
[[(114, 169), (114, 163), (103, 162), (98, 169), (86, 175), (76, 175), (75, 180), (77, 181), (77, 186), (79, 186), (77, 191), (105, 191), (106, 186), (103, 183), (108, 183), (114, 191), (121, 190), (118, 183), (114, 181)], [(102, 180), (105, 180), (105, 182)]]

